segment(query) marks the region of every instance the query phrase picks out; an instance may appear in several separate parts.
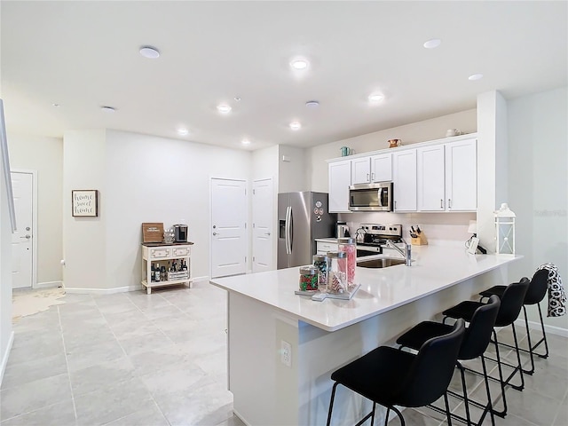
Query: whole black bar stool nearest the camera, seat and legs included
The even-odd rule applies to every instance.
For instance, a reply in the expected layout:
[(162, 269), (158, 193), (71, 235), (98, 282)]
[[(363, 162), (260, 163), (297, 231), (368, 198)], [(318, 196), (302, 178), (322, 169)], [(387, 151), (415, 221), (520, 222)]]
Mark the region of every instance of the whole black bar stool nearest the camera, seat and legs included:
[(329, 401), (327, 426), (331, 422), (335, 390), (343, 384), (359, 395), (373, 401), (373, 410), (361, 419), (359, 426), (371, 419), (375, 422), (375, 406), (387, 407), (384, 424), (389, 422), (390, 410), (394, 411), (402, 425), (405, 419), (395, 406), (427, 406), (441, 396), (446, 401), (446, 417), (451, 426), (446, 390), (465, 334), (465, 322), (458, 320), (446, 335), (427, 340), (417, 354), (380, 346), (331, 375), (334, 387)]

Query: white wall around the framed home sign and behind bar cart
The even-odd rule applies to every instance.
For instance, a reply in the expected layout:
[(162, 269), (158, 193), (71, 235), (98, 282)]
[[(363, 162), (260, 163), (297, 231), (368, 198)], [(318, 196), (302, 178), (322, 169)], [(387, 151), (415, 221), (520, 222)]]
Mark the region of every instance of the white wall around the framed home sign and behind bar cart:
[(210, 177), (250, 181), (250, 153), (114, 130), (68, 132), (64, 152), (65, 193), (100, 192), (98, 218), (64, 217), (66, 288), (139, 287), (143, 222), (189, 225), (193, 278), (209, 276)]

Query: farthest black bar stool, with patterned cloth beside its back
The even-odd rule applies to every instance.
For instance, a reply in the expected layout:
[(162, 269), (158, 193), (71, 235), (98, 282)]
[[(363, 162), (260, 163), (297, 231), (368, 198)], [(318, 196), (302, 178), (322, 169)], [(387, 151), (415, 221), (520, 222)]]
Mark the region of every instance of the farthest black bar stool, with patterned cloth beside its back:
[[(507, 286), (494, 286), (492, 288), (487, 288), (486, 290), (479, 293), (482, 297), (490, 297), (493, 295), (501, 297), (503, 291)], [(547, 334), (544, 331), (544, 321), (542, 320), (542, 310), (540, 309), (540, 301), (544, 299), (544, 296), (547, 294), (548, 289), (548, 270), (540, 269), (537, 272), (534, 272), (533, 279), (529, 284), (529, 289), (526, 291), (525, 300), (523, 301), (523, 311), (525, 313), (525, 327), (526, 327), (526, 338), (528, 340), (529, 349), (526, 350), (524, 348), (519, 348), (520, 351), (528, 352), (531, 354), (531, 369), (527, 370), (523, 368), (523, 372), (527, 375), (532, 375), (534, 373), (534, 355), (539, 356), (540, 358), (548, 358), (548, 342), (547, 342)], [(526, 305), (528, 304), (536, 304), (539, 308), (539, 317), (540, 317), (540, 328), (542, 329), (542, 338), (534, 344), (531, 343), (531, 329), (529, 328), (529, 319), (526, 315)], [(536, 352), (536, 348), (540, 345), (540, 343), (544, 342), (545, 352), (538, 353)], [(512, 348), (513, 346), (510, 344), (504, 344), (505, 346), (509, 346)]]

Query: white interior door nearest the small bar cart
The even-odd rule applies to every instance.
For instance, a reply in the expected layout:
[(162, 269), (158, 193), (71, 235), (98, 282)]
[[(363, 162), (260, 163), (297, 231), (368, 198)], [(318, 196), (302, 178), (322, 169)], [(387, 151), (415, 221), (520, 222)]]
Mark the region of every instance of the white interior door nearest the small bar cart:
[(247, 272), (247, 182), (211, 179), (211, 278)]

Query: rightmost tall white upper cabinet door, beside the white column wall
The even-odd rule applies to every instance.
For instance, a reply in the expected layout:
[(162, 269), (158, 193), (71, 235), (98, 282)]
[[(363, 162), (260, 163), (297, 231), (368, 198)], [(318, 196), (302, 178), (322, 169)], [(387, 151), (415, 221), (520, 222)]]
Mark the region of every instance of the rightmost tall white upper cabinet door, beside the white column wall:
[(477, 140), (446, 144), (446, 210), (477, 209)]

